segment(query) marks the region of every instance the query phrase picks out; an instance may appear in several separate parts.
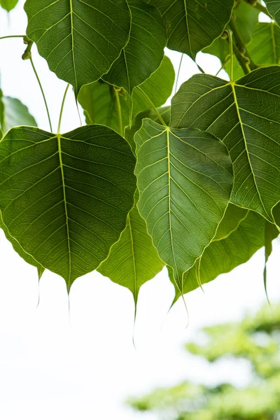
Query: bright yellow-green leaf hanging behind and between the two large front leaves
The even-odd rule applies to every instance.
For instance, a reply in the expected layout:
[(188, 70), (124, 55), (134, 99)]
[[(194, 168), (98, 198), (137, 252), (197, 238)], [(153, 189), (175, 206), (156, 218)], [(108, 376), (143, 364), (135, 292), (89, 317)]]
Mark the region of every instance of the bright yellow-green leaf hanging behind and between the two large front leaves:
[(139, 215), (138, 199), (137, 192), (134, 207), (127, 216), (127, 227), (120, 235), (120, 240), (113, 244), (109, 257), (98, 268), (104, 276), (129, 288), (135, 304), (140, 287), (153, 279), (165, 265), (148, 235), (146, 222)]

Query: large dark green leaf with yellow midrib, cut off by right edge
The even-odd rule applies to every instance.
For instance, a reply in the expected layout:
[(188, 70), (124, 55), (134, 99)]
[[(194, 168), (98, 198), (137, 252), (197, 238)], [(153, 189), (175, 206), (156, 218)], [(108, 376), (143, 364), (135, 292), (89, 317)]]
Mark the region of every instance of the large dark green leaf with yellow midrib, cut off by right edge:
[(195, 75), (172, 99), (172, 127), (206, 130), (228, 147), (235, 173), (231, 202), (272, 223), (280, 200), (279, 76), (278, 66), (235, 83)]

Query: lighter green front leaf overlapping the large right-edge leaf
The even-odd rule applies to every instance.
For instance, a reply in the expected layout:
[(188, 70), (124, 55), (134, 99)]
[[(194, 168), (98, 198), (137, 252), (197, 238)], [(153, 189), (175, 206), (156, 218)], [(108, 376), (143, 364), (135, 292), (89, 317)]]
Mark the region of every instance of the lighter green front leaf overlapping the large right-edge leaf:
[(223, 143), (200, 130), (145, 119), (134, 140), (139, 213), (181, 288), (183, 273), (214, 238), (228, 206), (232, 164)]

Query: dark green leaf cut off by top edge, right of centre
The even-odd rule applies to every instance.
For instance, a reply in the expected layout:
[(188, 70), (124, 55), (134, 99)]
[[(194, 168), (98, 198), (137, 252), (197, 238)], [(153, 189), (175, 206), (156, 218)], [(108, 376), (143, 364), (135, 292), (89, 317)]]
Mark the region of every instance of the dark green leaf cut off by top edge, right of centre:
[(230, 20), (233, 0), (150, 0), (167, 27), (167, 47), (195, 59), (197, 52), (220, 36)]

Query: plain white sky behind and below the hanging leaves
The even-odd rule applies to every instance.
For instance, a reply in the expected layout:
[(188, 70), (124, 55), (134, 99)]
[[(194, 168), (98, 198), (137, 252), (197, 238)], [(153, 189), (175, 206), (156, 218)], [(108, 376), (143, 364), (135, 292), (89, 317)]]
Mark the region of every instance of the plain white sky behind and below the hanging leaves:
[[(0, 10), (0, 36), (24, 34), (23, 1), (7, 15)], [(48, 120), (30, 62), (21, 59), (25, 45), (20, 38), (0, 41), (1, 87), (29, 106), (38, 125), (48, 130)], [(66, 83), (48, 71), (45, 60), (32, 49), (56, 128)], [(167, 51), (178, 69), (181, 55)], [(218, 59), (201, 55), (200, 65), (211, 73)], [(179, 85), (197, 72), (184, 58)], [(80, 125), (69, 91), (62, 130)], [(279, 302), (280, 244), (274, 242), (269, 260), (268, 293)], [(164, 269), (141, 288), (135, 328), (137, 350), (132, 344), (133, 300), (129, 290), (97, 272), (76, 280), (68, 297), (64, 280), (45, 272), (40, 283), (36, 269), (27, 265), (0, 235), (0, 418), (5, 420), (131, 420), (155, 419), (137, 414), (123, 404), (130, 395), (141, 395), (155, 386), (169, 386), (183, 379), (233, 380), (244, 384), (244, 363), (218, 363), (213, 370), (182, 349), (197, 328), (209, 323), (237, 320), (265, 302), (262, 283), (263, 249), (229, 274), (186, 297), (187, 316), (181, 300), (166, 316), (174, 295)], [(163, 324), (163, 325), (162, 325)]]

